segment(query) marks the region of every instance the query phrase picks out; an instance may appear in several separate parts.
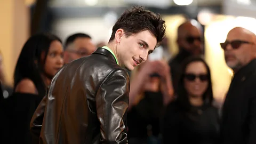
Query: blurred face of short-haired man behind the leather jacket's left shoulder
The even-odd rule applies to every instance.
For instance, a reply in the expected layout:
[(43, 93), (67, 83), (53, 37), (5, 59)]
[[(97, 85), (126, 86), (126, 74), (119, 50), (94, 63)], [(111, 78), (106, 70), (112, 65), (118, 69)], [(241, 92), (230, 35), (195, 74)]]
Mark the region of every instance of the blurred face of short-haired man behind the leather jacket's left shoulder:
[(64, 58), (65, 63), (91, 55), (96, 50), (91, 38), (78, 37), (68, 45)]

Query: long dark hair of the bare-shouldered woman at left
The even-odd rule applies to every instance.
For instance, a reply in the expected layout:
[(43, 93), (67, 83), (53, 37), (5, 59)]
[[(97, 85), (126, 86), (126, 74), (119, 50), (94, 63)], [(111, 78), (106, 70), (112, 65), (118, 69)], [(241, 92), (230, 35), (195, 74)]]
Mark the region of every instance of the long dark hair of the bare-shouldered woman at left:
[[(35, 84), (39, 95), (45, 94), (46, 86), (41, 74), (44, 73), (45, 60), (53, 41), (61, 42), (59, 37), (52, 34), (37, 34), (28, 39), (21, 50), (15, 67), (14, 90), (22, 79), (28, 78)], [(42, 55), (44, 56), (43, 59)]]

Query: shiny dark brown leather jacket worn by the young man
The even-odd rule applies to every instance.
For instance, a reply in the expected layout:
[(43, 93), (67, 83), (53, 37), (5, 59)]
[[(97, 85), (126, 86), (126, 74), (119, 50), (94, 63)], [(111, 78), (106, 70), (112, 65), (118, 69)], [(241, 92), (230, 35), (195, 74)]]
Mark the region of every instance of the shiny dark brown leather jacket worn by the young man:
[(129, 91), (126, 70), (98, 48), (54, 76), (30, 130), (39, 143), (127, 143)]

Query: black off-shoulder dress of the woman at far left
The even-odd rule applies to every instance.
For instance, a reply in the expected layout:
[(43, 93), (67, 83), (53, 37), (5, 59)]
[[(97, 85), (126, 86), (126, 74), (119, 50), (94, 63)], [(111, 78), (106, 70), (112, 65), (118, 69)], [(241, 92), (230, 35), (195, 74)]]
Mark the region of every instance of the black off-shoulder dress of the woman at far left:
[(0, 143), (35, 143), (29, 124), (42, 98), (43, 95), (13, 93), (0, 102)]

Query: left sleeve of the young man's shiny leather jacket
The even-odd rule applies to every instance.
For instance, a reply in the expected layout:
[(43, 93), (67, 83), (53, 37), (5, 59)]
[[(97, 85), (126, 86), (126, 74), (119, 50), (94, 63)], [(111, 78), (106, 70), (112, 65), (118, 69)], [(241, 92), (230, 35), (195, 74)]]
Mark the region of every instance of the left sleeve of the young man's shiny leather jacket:
[(47, 102), (47, 93), (48, 93), (49, 87), (47, 87), (46, 95), (42, 99), (42, 101), (39, 103), (39, 105), (36, 108), (36, 111), (31, 118), (30, 121), (30, 132), (33, 134), (36, 138), (39, 138), (43, 119), (44, 119), (44, 110)]

